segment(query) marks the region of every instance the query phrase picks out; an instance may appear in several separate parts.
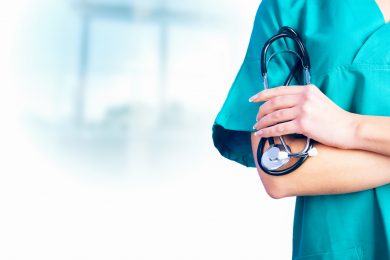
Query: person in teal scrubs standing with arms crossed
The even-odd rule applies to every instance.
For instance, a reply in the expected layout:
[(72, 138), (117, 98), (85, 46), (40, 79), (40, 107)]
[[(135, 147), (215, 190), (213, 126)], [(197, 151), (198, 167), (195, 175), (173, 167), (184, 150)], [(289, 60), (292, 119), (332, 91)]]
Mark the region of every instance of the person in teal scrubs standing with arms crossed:
[[(263, 0), (213, 124), (222, 156), (256, 167), (271, 197), (296, 196), (292, 259), (390, 259), (388, 10), (386, 0)], [(275, 88), (262, 91), (261, 48), (282, 26), (303, 39), (313, 85), (277, 87), (295, 59), (283, 57), (269, 64)], [(305, 139), (292, 133), (315, 140), (318, 156), (285, 176), (262, 172), (260, 138), (285, 135), (299, 150)]]

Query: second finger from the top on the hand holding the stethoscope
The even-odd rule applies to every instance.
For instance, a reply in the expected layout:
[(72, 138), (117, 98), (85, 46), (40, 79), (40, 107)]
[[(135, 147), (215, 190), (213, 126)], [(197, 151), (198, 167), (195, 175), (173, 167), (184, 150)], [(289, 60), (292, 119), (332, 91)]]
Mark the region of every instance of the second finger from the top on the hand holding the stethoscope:
[(259, 113), (256, 116), (256, 121), (259, 121), (264, 116), (273, 113), (276, 110), (290, 108), (298, 105), (301, 101), (300, 95), (286, 95), (274, 97), (271, 100), (265, 102), (259, 108)]

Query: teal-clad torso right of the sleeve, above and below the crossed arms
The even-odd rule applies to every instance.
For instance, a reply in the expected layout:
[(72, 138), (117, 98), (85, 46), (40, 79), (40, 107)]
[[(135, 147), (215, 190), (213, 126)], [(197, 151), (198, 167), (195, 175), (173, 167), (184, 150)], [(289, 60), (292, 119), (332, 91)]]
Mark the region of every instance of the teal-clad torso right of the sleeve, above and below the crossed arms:
[[(313, 22), (310, 12), (299, 13), (312, 58), (312, 82), (348, 111), (390, 116), (390, 0), (318, 2), (324, 3), (321, 12), (327, 18), (315, 20), (320, 26), (307, 25)], [(305, 10), (320, 13), (314, 7)], [(329, 44), (334, 39), (337, 45)], [(293, 259), (390, 259), (389, 196), (390, 185), (297, 197)]]

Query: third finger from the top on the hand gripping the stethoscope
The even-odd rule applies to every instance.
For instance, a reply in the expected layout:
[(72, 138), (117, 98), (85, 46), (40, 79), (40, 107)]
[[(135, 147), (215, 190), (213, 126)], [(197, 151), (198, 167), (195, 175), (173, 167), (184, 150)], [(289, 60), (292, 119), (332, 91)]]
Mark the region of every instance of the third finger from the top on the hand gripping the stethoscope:
[(299, 115), (298, 107), (276, 110), (271, 114), (262, 117), (255, 125), (254, 129), (260, 130), (282, 122), (294, 120)]

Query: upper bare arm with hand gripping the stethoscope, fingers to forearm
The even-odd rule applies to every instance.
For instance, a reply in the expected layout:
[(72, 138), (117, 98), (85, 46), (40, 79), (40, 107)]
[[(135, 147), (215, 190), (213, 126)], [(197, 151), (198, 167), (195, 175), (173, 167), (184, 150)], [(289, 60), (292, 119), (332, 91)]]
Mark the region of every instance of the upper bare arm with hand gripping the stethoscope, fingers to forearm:
[(327, 146), (390, 156), (390, 117), (345, 111), (314, 85), (267, 89), (251, 98), (262, 101), (254, 126), (261, 137), (299, 133)]

